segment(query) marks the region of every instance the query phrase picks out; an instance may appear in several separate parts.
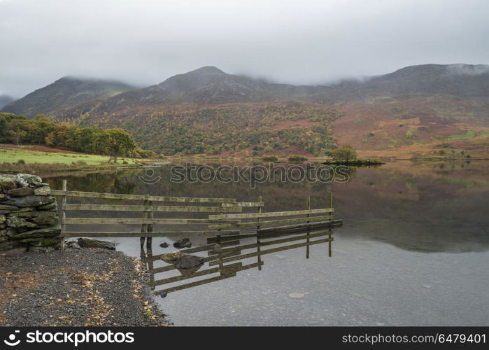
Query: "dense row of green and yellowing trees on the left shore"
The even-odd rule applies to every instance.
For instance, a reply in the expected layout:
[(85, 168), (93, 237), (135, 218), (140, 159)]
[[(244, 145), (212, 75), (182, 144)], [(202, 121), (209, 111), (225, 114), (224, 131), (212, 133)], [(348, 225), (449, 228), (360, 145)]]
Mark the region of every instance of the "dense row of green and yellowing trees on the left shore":
[(17, 146), (24, 143), (51, 146), (70, 151), (108, 155), (114, 160), (117, 160), (118, 156), (132, 158), (155, 156), (152, 151), (137, 146), (132, 136), (125, 130), (58, 124), (43, 114), (28, 119), (13, 113), (0, 113), (0, 143), (13, 143)]

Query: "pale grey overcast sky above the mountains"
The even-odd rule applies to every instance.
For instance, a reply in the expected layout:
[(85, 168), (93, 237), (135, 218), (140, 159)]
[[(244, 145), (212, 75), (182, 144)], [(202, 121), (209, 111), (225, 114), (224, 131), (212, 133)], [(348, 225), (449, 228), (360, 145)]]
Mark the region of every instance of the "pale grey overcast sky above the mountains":
[(488, 0), (0, 0), (0, 94), (62, 76), (160, 83), (199, 66), (318, 84), (489, 63)]

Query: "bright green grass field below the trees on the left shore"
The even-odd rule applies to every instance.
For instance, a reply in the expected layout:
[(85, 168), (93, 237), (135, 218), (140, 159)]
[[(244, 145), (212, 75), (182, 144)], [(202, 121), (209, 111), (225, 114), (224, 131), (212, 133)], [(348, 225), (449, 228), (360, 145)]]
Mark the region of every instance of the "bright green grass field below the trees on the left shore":
[[(130, 165), (134, 164), (130, 158), (124, 158)], [(0, 146), (0, 163), (17, 163), (19, 160), (24, 160), (26, 164), (29, 163), (44, 163), (44, 164), (66, 164), (71, 165), (73, 162), (83, 161), (86, 165), (100, 165), (101, 163), (107, 163), (108, 157), (101, 155), (87, 155), (82, 153), (54, 153), (43, 151), (32, 151), (22, 148), (2, 148)], [(118, 160), (119, 164), (122, 164), (122, 158)], [(83, 163), (80, 162), (80, 165)]]

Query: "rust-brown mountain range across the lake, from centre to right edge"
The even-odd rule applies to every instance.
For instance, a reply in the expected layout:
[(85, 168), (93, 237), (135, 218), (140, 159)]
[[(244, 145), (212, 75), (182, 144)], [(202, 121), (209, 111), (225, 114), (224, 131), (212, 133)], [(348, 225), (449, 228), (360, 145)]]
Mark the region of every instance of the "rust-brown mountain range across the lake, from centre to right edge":
[(489, 156), (488, 97), (487, 65), (423, 64), (327, 86), (205, 66), (115, 96), (33, 106), (58, 121), (122, 127), (166, 155), (312, 156), (350, 143), (367, 156)]

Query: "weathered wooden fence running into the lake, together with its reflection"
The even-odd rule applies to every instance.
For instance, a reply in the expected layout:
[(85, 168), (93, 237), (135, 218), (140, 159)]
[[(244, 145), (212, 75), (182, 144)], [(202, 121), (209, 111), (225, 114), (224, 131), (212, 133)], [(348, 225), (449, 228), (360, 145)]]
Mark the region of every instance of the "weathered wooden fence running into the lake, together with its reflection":
[[(62, 235), (64, 237), (140, 237), (141, 259), (147, 264), (150, 273), (150, 286), (153, 290), (157, 286), (177, 283), (194, 277), (217, 274), (208, 279), (191, 281), (178, 286), (170, 286), (155, 293), (173, 292), (204, 283), (220, 281), (245, 269), (257, 267), (262, 269), (262, 256), (292, 248), (306, 247), (306, 258), (309, 258), (309, 247), (315, 244), (328, 244), (328, 255), (332, 255), (333, 228), (342, 225), (341, 220), (334, 220), (333, 196), (329, 195), (327, 208), (311, 209), (311, 199), (306, 197), (303, 210), (264, 212), (264, 200), (259, 197), (257, 202), (238, 202), (232, 198), (199, 198), (199, 197), (165, 197), (153, 195), (126, 195), (118, 193), (92, 193), (66, 190), (66, 181), (63, 181), (62, 190), (52, 190), (53, 195), (61, 197), (60, 218)], [(68, 199), (78, 198), (104, 201), (103, 204), (69, 203)], [(139, 202), (127, 204), (127, 202)], [(113, 204), (118, 202), (118, 204)], [(123, 202), (120, 204), (120, 202)], [(243, 209), (255, 210), (255, 213), (243, 213)], [(114, 212), (141, 213), (139, 218), (106, 218), (106, 217), (71, 217), (73, 212), (102, 213), (111, 215)], [(189, 213), (203, 213), (206, 218), (155, 218), (155, 214), (178, 213), (182, 216)], [(67, 225), (141, 225), (138, 232), (66, 230)], [(201, 230), (165, 230), (155, 231), (153, 225), (200, 225)], [(245, 229), (245, 233), (241, 233)], [(181, 253), (206, 252), (204, 265), (208, 268), (185, 273), (178, 276), (167, 276), (155, 280), (155, 275), (166, 274), (175, 270), (174, 265), (154, 267), (154, 262), (162, 260), (162, 255), (153, 255), (151, 237), (166, 237), (178, 234), (182, 237), (193, 234), (211, 235), (204, 246), (180, 250)], [(286, 236), (286, 238), (283, 238)], [(278, 238), (278, 239), (277, 239)], [(143, 249), (143, 242), (147, 239), (147, 252)], [(241, 244), (242, 239), (248, 239)], [(250, 241), (250, 239), (255, 239)], [(288, 244), (293, 242), (292, 244)], [(213, 248), (219, 244), (222, 251), (215, 253)], [(287, 244), (287, 245), (283, 245)], [(256, 258), (256, 262), (244, 264), (241, 260)]]

